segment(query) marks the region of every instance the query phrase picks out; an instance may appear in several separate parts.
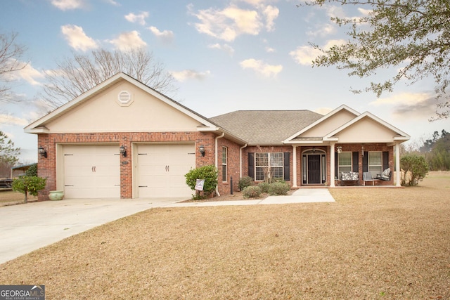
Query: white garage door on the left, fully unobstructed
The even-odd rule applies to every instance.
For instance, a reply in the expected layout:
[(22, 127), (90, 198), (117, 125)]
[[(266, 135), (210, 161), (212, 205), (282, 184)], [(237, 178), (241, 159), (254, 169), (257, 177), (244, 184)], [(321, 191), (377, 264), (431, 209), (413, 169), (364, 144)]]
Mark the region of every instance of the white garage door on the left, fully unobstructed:
[(65, 145), (63, 149), (66, 198), (120, 198), (119, 146)]

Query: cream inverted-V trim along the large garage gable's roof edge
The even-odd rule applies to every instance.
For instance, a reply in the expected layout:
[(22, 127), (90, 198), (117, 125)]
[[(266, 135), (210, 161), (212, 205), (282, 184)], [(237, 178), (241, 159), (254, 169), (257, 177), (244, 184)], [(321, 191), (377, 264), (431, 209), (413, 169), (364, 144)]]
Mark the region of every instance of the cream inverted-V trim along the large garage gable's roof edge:
[(68, 103), (65, 103), (64, 105), (61, 105), (60, 107), (56, 108), (56, 110), (53, 110), (52, 112), (45, 115), (44, 117), (41, 117), (40, 119), (37, 119), (37, 121), (32, 122), (32, 124), (25, 127), (25, 129), (24, 129), (25, 132), (26, 133), (49, 133), (49, 130), (46, 129), (46, 124), (49, 124), (53, 120), (55, 120), (59, 117), (62, 117), (63, 115), (70, 112), (71, 110), (74, 110), (79, 105), (86, 103), (86, 101), (90, 100), (94, 96), (98, 95), (99, 93), (102, 93), (103, 91), (109, 89), (111, 86), (113, 86), (123, 80), (129, 81), (129, 83), (134, 84), (135, 86), (142, 89), (143, 91), (146, 91), (150, 95), (155, 96), (155, 98), (158, 98), (159, 100), (166, 103), (167, 105), (170, 105), (170, 106), (176, 108), (176, 110), (179, 110), (180, 112), (183, 112), (184, 114), (188, 115), (189, 117), (192, 117), (196, 121), (203, 124), (203, 126), (201, 126), (201, 128), (203, 130), (205, 130), (205, 129), (210, 130), (210, 131), (217, 130), (217, 125), (210, 122), (210, 120), (208, 120), (206, 117), (203, 117), (202, 115), (198, 114), (197, 112), (190, 110), (188, 107), (181, 105), (180, 103), (163, 95), (162, 93), (156, 91), (155, 89), (152, 89), (149, 86), (146, 86), (145, 84), (141, 83), (141, 81), (138, 81), (123, 72), (119, 72), (119, 73), (115, 74), (113, 77), (106, 79), (101, 84), (94, 86), (94, 88), (89, 89), (89, 91), (82, 93), (77, 98), (74, 98), (74, 99), (70, 100)]

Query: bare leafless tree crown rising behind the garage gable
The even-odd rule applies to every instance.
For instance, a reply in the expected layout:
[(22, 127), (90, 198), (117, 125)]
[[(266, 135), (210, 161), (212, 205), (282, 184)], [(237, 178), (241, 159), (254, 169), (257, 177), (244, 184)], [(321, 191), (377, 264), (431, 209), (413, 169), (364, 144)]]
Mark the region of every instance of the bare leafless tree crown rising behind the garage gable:
[(94, 86), (124, 72), (143, 84), (159, 91), (172, 93), (174, 78), (165, 72), (162, 63), (143, 48), (129, 51), (94, 50), (87, 54), (76, 54), (57, 63), (56, 70), (46, 71), (43, 100), (56, 108), (76, 98)]

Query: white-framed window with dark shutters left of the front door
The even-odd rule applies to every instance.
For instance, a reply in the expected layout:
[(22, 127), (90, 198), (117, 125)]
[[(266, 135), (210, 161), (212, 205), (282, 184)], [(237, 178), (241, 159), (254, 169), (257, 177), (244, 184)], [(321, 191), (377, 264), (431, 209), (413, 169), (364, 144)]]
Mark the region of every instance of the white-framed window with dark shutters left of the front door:
[(255, 181), (283, 179), (283, 152), (255, 153)]

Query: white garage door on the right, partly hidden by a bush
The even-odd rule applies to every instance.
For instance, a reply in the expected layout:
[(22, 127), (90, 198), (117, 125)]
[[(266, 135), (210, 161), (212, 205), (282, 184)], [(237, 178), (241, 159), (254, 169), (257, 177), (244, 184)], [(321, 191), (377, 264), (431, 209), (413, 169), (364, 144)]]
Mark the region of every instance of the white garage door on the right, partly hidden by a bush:
[(191, 197), (184, 175), (195, 168), (195, 145), (138, 145), (138, 197)]

